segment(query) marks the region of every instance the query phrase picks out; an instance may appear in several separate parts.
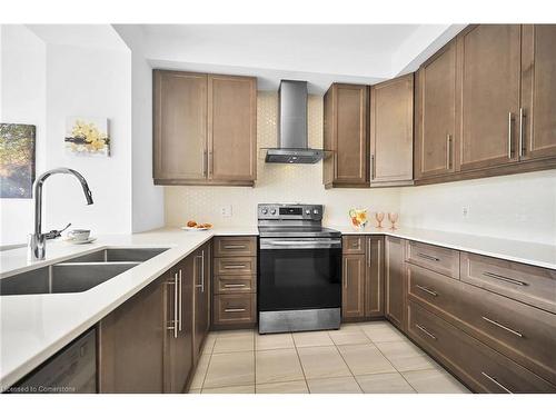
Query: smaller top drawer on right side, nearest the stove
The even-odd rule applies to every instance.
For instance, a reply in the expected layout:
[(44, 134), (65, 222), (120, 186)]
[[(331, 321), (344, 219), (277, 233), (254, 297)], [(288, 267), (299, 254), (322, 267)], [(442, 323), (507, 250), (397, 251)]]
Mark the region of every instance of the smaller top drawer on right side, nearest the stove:
[(409, 241), (406, 261), (451, 278), (459, 278), (459, 252), (454, 249)]

